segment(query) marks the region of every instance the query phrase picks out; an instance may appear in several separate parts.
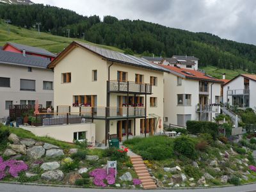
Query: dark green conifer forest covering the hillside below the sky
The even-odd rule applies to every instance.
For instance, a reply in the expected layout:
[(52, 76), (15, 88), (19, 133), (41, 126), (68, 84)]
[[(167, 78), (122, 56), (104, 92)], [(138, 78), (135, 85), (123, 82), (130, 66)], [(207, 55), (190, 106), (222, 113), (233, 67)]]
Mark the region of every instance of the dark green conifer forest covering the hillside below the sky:
[[(200, 66), (241, 69), (256, 73), (256, 46), (223, 40), (209, 33), (193, 33), (167, 28), (143, 20), (118, 20), (106, 16), (103, 21), (96, 15), (84, 17), (76, 12), (44, 6), (0, 5), (0, 17), (11, 19), (16, 26), (35, 27), (41, 22), (42, 31), (53, 35), (85, 38), (90, 42), (111, 45), (136, 54), (172, 56), (188, 54), (200, 58)], [(131, 50), (130, 50), (131, 49)]]

